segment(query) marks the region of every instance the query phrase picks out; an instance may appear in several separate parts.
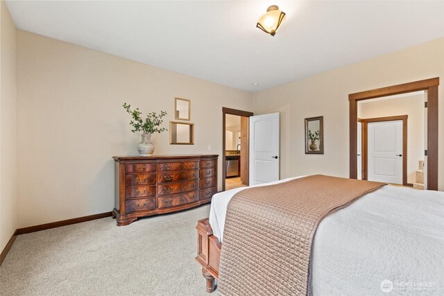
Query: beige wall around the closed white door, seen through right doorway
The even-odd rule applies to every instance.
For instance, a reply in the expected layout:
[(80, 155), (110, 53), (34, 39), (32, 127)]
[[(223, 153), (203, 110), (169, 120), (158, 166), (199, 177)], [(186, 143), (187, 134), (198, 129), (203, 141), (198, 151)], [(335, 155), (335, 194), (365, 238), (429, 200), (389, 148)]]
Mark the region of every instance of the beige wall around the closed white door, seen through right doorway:
[(404, 96), (379, 101), (379, 99), (358, 103), (358, 117), (408, 115), (407, 119), (407, 182), (416, 182), (418, 161), (424, 160), (424, 95)]

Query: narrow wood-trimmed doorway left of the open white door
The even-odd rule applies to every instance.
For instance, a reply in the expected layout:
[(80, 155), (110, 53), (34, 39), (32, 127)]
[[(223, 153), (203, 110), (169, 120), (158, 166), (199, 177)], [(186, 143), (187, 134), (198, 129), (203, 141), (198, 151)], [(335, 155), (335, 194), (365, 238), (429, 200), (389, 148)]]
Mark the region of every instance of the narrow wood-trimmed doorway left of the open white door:
[(222, 108), (222, 191), (249, 185), (249, 118), (252, 112)]

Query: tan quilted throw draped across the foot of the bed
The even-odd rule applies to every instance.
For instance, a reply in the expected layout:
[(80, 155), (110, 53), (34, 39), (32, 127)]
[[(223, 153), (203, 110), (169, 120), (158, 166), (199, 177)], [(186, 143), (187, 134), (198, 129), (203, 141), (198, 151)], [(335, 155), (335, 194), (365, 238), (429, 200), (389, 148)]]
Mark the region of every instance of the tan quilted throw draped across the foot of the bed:
[(382, 186), (312, 175), (240, 191), (228, 204), (219, 294), (307, 295), (318, 224)]

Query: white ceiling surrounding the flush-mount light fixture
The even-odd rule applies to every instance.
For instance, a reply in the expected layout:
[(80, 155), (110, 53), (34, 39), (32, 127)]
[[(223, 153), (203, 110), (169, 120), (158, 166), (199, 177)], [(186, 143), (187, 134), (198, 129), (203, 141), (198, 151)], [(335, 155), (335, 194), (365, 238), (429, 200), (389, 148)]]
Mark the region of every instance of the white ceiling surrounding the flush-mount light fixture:
[[(21, 30), (247, 92), (444, 37), (444, 1), (6, 3)], [(271, 4), (275, 37), (255, 28)]]

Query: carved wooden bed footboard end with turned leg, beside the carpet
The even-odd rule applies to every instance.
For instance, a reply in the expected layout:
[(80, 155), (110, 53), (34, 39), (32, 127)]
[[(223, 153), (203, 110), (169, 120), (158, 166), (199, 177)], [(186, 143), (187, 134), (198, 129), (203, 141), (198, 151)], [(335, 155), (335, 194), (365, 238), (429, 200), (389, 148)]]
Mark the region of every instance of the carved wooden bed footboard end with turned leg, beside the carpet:
[(202, 265), (202, 275), (205, 277), (207, 292), (216, 290), (215, 279), (219, 278), (219, 261), (221, 259), (221, 243), (213, 235), (213, 229), (208, 218), (198, 220), (197, 226), (197, 257)]

